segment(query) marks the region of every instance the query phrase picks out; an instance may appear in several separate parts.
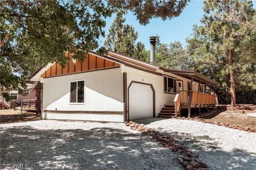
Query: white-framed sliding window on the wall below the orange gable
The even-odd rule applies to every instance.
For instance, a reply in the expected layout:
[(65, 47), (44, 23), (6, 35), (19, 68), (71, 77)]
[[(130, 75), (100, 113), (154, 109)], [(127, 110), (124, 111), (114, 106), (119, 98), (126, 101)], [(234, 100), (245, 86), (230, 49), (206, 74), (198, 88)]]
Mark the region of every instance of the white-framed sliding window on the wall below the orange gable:
[(70, 103), (84, 103), (84, 81), (70, 82)]

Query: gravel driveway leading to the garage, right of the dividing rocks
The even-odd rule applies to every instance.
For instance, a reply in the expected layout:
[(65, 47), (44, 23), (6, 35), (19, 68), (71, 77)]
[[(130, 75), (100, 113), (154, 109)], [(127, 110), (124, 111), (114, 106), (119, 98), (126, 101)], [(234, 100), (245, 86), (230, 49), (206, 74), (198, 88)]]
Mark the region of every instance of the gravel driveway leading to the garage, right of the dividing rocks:
[(148, 118), (135, 122), (173, 135), (199, 154), (209, 169), (256, 169), (256, 133), (190, 120)]

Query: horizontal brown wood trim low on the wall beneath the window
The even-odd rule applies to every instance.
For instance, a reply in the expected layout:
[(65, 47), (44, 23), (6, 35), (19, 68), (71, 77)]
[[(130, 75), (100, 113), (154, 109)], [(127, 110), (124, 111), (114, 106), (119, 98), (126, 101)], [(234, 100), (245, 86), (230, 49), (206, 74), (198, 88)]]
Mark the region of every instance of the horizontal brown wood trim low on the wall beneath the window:
[(123, 115), (124, 112), (118, 111), (54, 111), (54, 110), (44, 110), (43, 112), (49, 113), (60, 113), (60, 114), (108, 114), (108, 115)]

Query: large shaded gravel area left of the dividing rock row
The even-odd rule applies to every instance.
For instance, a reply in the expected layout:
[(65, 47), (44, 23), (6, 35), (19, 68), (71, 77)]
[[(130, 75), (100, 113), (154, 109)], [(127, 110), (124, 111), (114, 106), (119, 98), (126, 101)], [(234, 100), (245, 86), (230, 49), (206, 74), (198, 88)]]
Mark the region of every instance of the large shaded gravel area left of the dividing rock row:
[(182, 169), (169, 149), (123, 123), (0, 125), (0, 169)]

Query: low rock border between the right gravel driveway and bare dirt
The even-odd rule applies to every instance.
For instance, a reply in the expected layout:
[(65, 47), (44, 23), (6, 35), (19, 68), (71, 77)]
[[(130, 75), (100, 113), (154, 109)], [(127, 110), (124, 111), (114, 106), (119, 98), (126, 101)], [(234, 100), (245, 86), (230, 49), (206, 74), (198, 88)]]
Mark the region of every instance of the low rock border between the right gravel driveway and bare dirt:
[(190, 118), (188, 118), (188, 117), (172, 117), (172, 118), (180, 119), (180, 120), (191, 120), (191, 121), (197, 121), (197, 122), (203, 122), (203, 123), (210, 123), (210, 124), (215, 124), (218, 126), (225, 126), (227, 128), (238, 129), (238, 130), (242, 130), (242, 131), (246, 131), (246, 132), (256, 132), (256, 129), (253, 129), (253, 128), (233, 125), (231, 123), (213, 122), (213, 121), (209, 121), (205, 118), (201, 118), (201, 117), (190, 117)]

